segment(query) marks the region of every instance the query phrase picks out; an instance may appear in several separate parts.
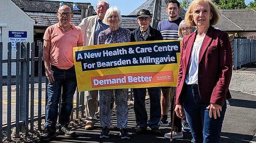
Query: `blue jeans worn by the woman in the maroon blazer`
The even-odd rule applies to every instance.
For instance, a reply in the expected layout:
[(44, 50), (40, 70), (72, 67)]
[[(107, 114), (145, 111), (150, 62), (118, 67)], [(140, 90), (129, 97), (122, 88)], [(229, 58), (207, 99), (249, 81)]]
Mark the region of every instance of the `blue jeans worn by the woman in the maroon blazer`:
[(186, 85), (182, 93), (183, 108), (195, 143), (220, 143), (221, 127), (227, 109), (224, 101), (221, 116), (217, 119), (209, 117), (209, 103), (202, 101), (197, 85)]

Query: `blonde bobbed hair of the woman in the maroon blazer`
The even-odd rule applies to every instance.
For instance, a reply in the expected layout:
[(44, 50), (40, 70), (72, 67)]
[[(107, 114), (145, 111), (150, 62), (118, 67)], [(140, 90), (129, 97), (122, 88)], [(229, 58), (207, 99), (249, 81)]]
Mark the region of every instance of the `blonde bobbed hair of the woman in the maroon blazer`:
[(204, 2), (209, 4), (210, 12), (212, 12), (212, 19), (210, 20), (210, 25), (215, 25), (218, 22), (219, 20), (218, 14), (221, 14), (221, 12), (218, 10), (216, 5), (212, 3), (211, 0), (193, 0), (192, 3), (190, 3), (189, 5), (188, 10), (186, 11), (186, 15), (185, 15), (186, 23), (192, 26), (196, 26), (194, 20), (192, 19), (194, 8), (195, 8), (195, 5), (199, 3), (204, 3)]

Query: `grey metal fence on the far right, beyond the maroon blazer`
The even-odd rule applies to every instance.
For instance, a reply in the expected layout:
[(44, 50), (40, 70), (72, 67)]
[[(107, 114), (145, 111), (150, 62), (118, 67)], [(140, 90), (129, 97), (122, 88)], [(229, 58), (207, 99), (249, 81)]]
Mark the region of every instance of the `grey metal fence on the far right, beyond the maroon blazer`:
[(234, 39), (234, 69), (256, 62), (256, 39)]

